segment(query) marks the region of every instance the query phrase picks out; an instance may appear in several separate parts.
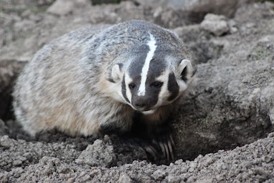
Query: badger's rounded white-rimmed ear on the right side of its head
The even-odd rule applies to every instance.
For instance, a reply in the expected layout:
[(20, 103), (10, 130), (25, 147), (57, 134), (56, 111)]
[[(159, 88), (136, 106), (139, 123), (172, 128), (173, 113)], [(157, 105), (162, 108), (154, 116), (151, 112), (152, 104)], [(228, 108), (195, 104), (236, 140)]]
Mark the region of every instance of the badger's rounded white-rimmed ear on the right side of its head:
[(179, 85), (179, 90), (186, 90), (187, 83), (192, 76), (193, 69), (192, 64), (189, 60), (182, 60), (177, 68), (179, 73), (179, 78), (177, 78), (177, 84)]

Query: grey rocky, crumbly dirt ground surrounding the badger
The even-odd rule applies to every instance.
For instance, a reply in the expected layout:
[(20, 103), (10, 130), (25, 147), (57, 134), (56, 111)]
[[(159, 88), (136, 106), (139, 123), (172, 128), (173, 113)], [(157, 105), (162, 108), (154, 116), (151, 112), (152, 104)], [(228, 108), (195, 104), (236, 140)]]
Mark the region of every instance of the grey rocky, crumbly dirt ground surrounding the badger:
[[(0, 1), (0, 182), (274, 182), (274, 4), (161, 2)], [(116, 135), (25, 134), (10, 93), (34, 53), (130, 19), (172, 29), (197, 57), (196, 86), (170, 122), (176, 160), (153, 161)]]

